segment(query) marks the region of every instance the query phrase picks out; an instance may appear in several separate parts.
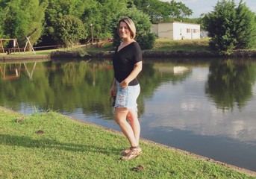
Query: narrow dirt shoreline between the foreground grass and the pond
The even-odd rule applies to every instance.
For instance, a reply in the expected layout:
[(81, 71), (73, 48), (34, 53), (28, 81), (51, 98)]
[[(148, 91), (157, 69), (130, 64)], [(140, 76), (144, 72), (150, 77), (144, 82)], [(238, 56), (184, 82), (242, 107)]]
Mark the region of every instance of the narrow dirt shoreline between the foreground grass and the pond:
[[(5, 108), (5, 107), (1, 107), (1, 106), (0, 106), (0, 110), (6, 110), (6, 111), (9, 111), (10, 113), (18, 113), (18, 112), (15, 112), (15, 111), (13, 111), (13, 110), (9, 110), (9, 109), (7, 109), (7, 108)], [(60, 114), (60, 115), (63, 115), (63, 114)], [(65, 116), (65, 115), (63, 115), (63, 116)], [(110, 128), (105, 128), (105, 127), (103, 127), (103, 126), (101, 126), (101, 125), (96, 125), (96, 124), (93, 124), (93, 123), (90, 123), (90, 122), (85, 122), (85, 121), (82, 121), (82, 120), (80, 120), (80, 119), (75, 119), (75, 118), (69, 117), (69, 116), (66, 116), (66, 117), (69, 118), (69, 119), (71, 119), (71, 120), (74, 120), (75, 122), (80, 122), (80, 123), (86, 124), (86, 125), (93, 125), (93, 126), (96, 126), (96, 127), (98, 127), (98, 128), (102, 128), (102, 129), (104, 129), (104, 130), (106, 130), (106, 131), (110, 131), (110, 132), (112, 132), (113, 134), (122, 135), (122, 133), (119, 132), (119, 131), (115, 131), (115, 130), (110, 129)], [(151, 140), (149, 140), (149, 139), (143, 139), (143, 138), (141, 138), (141, 141), (143, 141), (143, 142), (148, 142), (148, 143), (152, 143), (152, 144), (154, 144), (154, 145), (158, 145), (158, 146), (163, 147), (163, 148), (168, 148), (169, 150), (178, 151), (178, 152), (181, 152), (182, 154), (187, 154), (187, 155), (190, 155), (190, 156), (192, 156), (192, 157), (195, 157), (197, 160), (206, 160), (207, 162), (216, 163), (216, 164), (221, 165), (221, 166), (223, 166), (223, 167), (226, 167), (226, 168), (228, 168), (228, 169), (234, 169), (234, 170), (236, 170), (236, 171), (238, 171), (238, 172), (243, 172), (243, 173), (245, 173), (246, 175), (249, 175), (249, 176), (252, 176), (252, 177), (256, 177), (256, 172), (251, 171), (251, 170), (249, 170), (249, 169), (243, 169), (243, 168), (241, 168), (241, 167), (233, 166), (233, 165), (228, 164), (228, 163), (222, 163), (222, 162), (219, 162), (219, 161), (210, 159), (210, 158), (208, 158), (208, 157), (203, 157), (203, 156), (198, 155), (198, 154), (193, 154), (192, 152), (189, 152), (189, 151), (184, 151), (184, 150), (181, 150), (181, 149), (178, 149), (178, 148), (173, 148), (173, 147), (168, 146), (168, 145), (163, 145), (163, 144), (160, 144), (160, 143), (157, 143), (157, 142), (153, 142), (153, 141), (151, 141)]]

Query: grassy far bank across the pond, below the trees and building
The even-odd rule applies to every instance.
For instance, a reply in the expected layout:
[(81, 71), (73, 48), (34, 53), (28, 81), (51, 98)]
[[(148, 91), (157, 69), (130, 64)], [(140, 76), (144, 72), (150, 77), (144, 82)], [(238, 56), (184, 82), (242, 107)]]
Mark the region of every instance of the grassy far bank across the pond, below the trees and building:
[[(102, 46), (101, 48), (99, 46)], [(87, 52), (89, 54), (89, 57), (95, 56), (95, 57), (104, 57), (106, 52), (113, 51), (113, 45), (112, 43), (106, 43), (102, 45), (102, 43), (94, 43), (93, 45), (79, 45), (75, 46), (74, 48), (58, 48), (58, 49), (51, 49), (51, 50), (40, 50), (36, 51), (36, 56), (43, 56), (43, 55), (50, 55), (52, 51), (65, 51), (65, 55), (67, 54), (70, 57), (85, 57), (87, 56)], [(241, 57), (247, 57), (247, 56), (253, 56), (255, 57), (255, 52), (253, 52), (253, 49), (246, 51), (234, 51), (233, 56), (241, 56)], [(199, 57), (208, 57), (211, 55), (216, 56), (214, 51), (210, 50), (209, 47), (209, 38), (204, 38), (200, 40), (168, 40), (168, 39), (157, 39), (154, 43), (154, 48), (150, 50), (144, 51), (144, 55), (150, 57), (154, 56), (171, 56), (176, 57), (178, 53), (178, 57), (181, 54), (184, 54), (184, 57), (190, 57), (190, 56), (199, 56)], [(182, 53), (181, 53), (182, 52)], [(205, 54), (204, 54), (205, 53)], [(253, 54), (252, 54), (253, 53)], [(77, 55), (78, 54), (78, 55)], [(156, 54), (153, 55), (152, 54)], [(160, 55), (159, 55), (160, 54)], [(65, 56), (64, 55), (64, 56)], [(27, 56), (35, 56), (33, 51), (26, 51), (24, 52), (15, 52), (12, 54), (0, 54), (1, 58), (10, 58), (10, 57), (27, 57)]]

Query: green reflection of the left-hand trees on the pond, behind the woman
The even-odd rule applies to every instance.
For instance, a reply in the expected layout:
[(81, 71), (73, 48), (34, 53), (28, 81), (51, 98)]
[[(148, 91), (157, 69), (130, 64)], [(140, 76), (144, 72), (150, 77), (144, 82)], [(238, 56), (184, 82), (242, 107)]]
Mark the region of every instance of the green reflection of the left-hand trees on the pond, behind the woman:
[[(109, 101), (113, 82), (111, 60), (53, 60), (22, 64), (25, 67), (19, 70), (18, 81), (0, 80), (0, 105), (12, 107), (15, 101), (34, 105), (40, 110), (72, 113), (79, 109), (87, 115), (113, 119)], [(157, 87), (169, 81), (175, 85), (190, 74), (190, 68), (175, 63), (144, 63), (143, 72), (138, 77), (141, 85), (140, 115), (145, 111), (144, 99), (151, 98)]]

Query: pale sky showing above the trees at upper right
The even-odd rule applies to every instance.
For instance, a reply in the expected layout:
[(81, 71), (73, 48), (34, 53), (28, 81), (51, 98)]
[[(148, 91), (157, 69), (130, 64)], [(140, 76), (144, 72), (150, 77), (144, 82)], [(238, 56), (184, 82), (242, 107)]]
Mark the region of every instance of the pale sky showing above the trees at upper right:
[[(171, 1), (171, 0), (161, 0), (161, 1)], [(176, 0), (177, 2), (179, 0)], [(210, 13), (213, 11), (213, 7), (216, 5), (218, 0), (180, 0), (183, 4), (193, 10), (193, 14), (189, 16), (190, 18), (199, 17), (202, 13)], [(235, 0), (236, 5), (238, 5), (240, 0)], [(243, 0), (246, 6), (249, 7), (253, 12), (256, 13), (256, 0)]]

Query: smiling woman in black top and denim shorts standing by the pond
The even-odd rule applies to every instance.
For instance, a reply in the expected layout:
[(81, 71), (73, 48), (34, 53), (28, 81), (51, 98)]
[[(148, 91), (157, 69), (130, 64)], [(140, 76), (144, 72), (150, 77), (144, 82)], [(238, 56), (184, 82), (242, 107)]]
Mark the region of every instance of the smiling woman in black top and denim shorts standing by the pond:
[(137, 97), (140, 94), (137, 75), (143, 67), (142, 52), (140, 45), (134, 40), (136, 28), (130, 18), (123, 17), (117, 31), (122, 43), (113, 55), (114, 79), (110, 95), (116, 95), (115, 121), (131, 145), (121, 151), (121, 154), (125, 154), (121, 159), (130, 160), (142, 153), (139, 146), (140, 122), (137, 116)]

